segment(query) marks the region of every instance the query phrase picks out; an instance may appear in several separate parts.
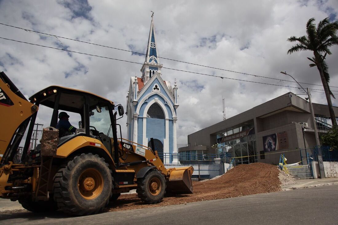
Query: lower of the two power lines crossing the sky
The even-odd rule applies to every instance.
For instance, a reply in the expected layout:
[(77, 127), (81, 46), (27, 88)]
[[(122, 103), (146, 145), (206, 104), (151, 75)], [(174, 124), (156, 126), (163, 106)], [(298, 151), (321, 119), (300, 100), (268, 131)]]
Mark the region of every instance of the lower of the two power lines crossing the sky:
[[(116, 59), (116, 58), (111, 58), (111, 57), (106, 57), (106, 56), (93, 55), (93, 54), (88, 54), (88, 53), (83, 53), (83, 52), (76, 52), (76, 51), (60, 49), (60, 48), (55, 48), (55, 47), (50, 47), (50, 46), (44, 46), (44, 45), (39, 45), (39, 44), (33, 44), (33, 43), (25, 42), (25, 41), (19, 41), (19, 40), (4, 38), (4, 37), (0, 37), (0, 38), (5, 39), (5, 40), (16, 41), (16, 42), (24, 43), (24, 44), (28, 44), (28, 45), (40, 46), (40, 47), (44, 47), (44, 48), (56, 49), (56, 50), (61, 50), (61, 51), (66, 51), (66, 52), (78, 53), (78, 54), (82, 54), (82, 55), (89, 55), (89, 56), (95, 56), (95, 57), (99, 57), (99, 58), (112, 59), (112, 60), (117, 60), (117, 61), (122, 61), (122, 62), (129, 62), (129, 63), (135, 63), (135, 64), (143, 65), (143, 63), (139, 63), (139, 62), (133, 62), (133, 61), (123, 60), (123, 59)], [(229, 78), (229, 77), (221, 77), (221, 76), (217, 76), (217, 75), (203, 74), (203, 73), (185, 71), (185, 70), (182, 70), (182, 69), (175, 69), (175, 68), (169, 68), (169, 67), (162, 67), (162, 68), (171, 69), (171, 70), (174, 70), (174, 71), (180, 71), (180, 72), (210, 76), (210, 77), (218, 77), (218, 78), (221, 78), (221, 79), (229, 79), (229, 80), (244, 81), (244, 82), (250, 82), (250, 83), (266, 84), (266, 85), (273, 85), (273, 86), (280, 86), (280, 87), (290, 87), (290, 88), (298, 88), (299, 89), (299, 87), (291, 87), (291, 86), (280, 85), (280, 84), (268, 84), (268, 83), (257, 82), (257, 81), (248, 81), (248, 80), (241, 80), (241, 79), (235, 79), (235, 78)], [(309, 90), (324, 91), (324, 90), (321, 90), (321, 89), (312, 89), (312, 88), (309, 88)], [(335, 91), (335, 92), (338, 92), (338, 91)]]

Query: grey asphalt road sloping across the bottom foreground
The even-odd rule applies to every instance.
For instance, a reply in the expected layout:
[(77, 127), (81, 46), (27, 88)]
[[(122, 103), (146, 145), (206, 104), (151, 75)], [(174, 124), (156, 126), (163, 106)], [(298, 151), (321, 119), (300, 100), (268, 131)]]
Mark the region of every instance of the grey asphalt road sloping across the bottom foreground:
[(338, 185), (67, 217), (0, 214), (0, 224), (338, 224)]

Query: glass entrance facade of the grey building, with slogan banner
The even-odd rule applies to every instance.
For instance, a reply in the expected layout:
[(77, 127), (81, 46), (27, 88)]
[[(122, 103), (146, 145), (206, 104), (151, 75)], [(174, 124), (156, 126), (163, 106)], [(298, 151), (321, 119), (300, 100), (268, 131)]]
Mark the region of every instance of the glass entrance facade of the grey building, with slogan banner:
[(217, 147), (219, 155), (231, 153), (236, 165), (258, 162), (254, 122), (218, 133)]

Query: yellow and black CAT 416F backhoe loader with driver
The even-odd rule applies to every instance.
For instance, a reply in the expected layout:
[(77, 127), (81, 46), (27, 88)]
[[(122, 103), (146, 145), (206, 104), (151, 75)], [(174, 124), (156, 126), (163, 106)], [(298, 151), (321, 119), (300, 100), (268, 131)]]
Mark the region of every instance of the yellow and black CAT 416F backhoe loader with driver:
[[(50, 124), (43, 129), (41, 143), (32, 146), (39, 107), (52, 113), (39, 114), (49, 117)], [(74, 133), (59, 135), (61, 111), (78, 115)], [(132, 189), (147, 204), (159, 203), (166, 191), (192, 193), (193, 168), (166, 169), (154, 146), (123, 139), (117, 124), (123, 107), (103, 97), (50, 86), (28, 101), (1, 72), (0, 112), (0, 197), (18, 200), (31, 212), (96, 214)], [(17, 162), (21, 140), (24, 147)]]

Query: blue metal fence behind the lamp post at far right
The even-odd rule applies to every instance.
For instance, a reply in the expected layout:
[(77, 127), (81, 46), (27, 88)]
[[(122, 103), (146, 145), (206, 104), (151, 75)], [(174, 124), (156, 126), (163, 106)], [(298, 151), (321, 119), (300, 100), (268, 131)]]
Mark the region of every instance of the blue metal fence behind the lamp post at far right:
[(318, 155), (323, 157), (324, 162), (338, 162), (338, 150), (330, 149), (328, 146), (300, 149), (300, 159), (303, 165), (318, 161)]

